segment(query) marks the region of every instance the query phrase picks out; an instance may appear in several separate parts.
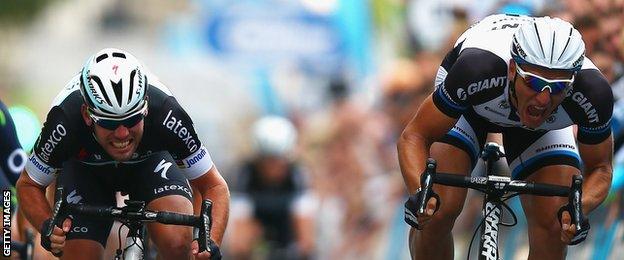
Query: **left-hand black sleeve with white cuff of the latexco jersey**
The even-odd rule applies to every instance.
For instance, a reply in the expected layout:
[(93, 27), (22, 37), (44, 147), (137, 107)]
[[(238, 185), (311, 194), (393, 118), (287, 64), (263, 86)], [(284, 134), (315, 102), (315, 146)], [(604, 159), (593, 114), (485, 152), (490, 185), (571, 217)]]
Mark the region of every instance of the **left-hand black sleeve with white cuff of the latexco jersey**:
[(26, 172), (31, 179), (42, 186), (54, 180), (63, 162), (69, 158), (72, 139), (69, 135), (71, 131), (67, 117), (60, 107), (53, 107), (26, 163)]

